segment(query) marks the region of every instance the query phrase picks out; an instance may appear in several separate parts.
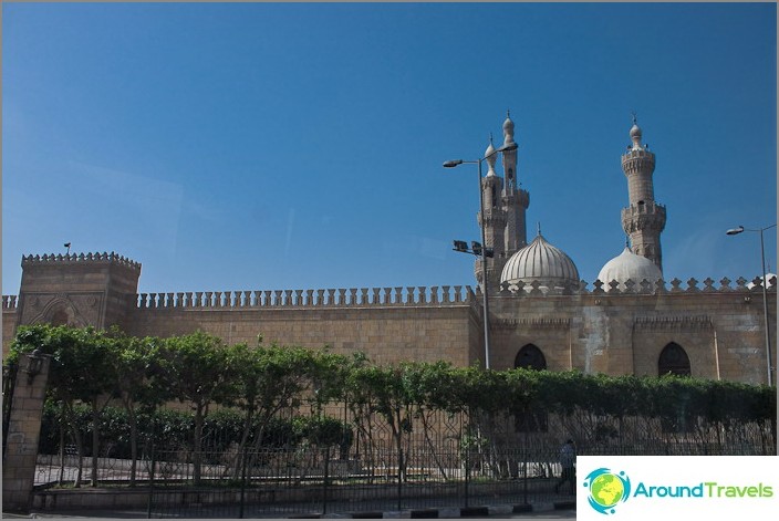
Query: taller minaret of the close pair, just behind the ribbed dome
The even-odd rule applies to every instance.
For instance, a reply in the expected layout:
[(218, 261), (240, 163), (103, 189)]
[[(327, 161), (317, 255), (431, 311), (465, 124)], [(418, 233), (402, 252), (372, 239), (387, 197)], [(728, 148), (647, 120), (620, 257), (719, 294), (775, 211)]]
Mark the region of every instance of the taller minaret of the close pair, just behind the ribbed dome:
[[(513, 122), (511, 115), (506, 113), (503, 122), (503, 146), (512, 145)], [(502, 153), (503, 184), (502, 202), (506, 209), (506, 259), (510, 258), (528, 243), (528, 232), (524, 212), (530, 206), (530, 194), (519, 188), (517, 180), (517, 149)], [(506, 262), (503, 260), (503, 263)]]

